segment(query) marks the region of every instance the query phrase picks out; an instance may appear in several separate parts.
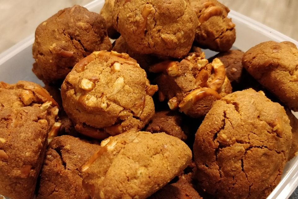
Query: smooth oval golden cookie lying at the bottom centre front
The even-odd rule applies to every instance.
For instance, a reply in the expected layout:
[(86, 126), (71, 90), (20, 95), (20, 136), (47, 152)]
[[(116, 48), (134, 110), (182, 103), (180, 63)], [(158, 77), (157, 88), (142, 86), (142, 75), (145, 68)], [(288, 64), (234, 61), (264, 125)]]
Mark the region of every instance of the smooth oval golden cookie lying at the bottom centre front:
[(165, 133), (125, 132), (102, 141), (82, 170), (92, 198), (145, 199), (187, 167), (192, 152)]

